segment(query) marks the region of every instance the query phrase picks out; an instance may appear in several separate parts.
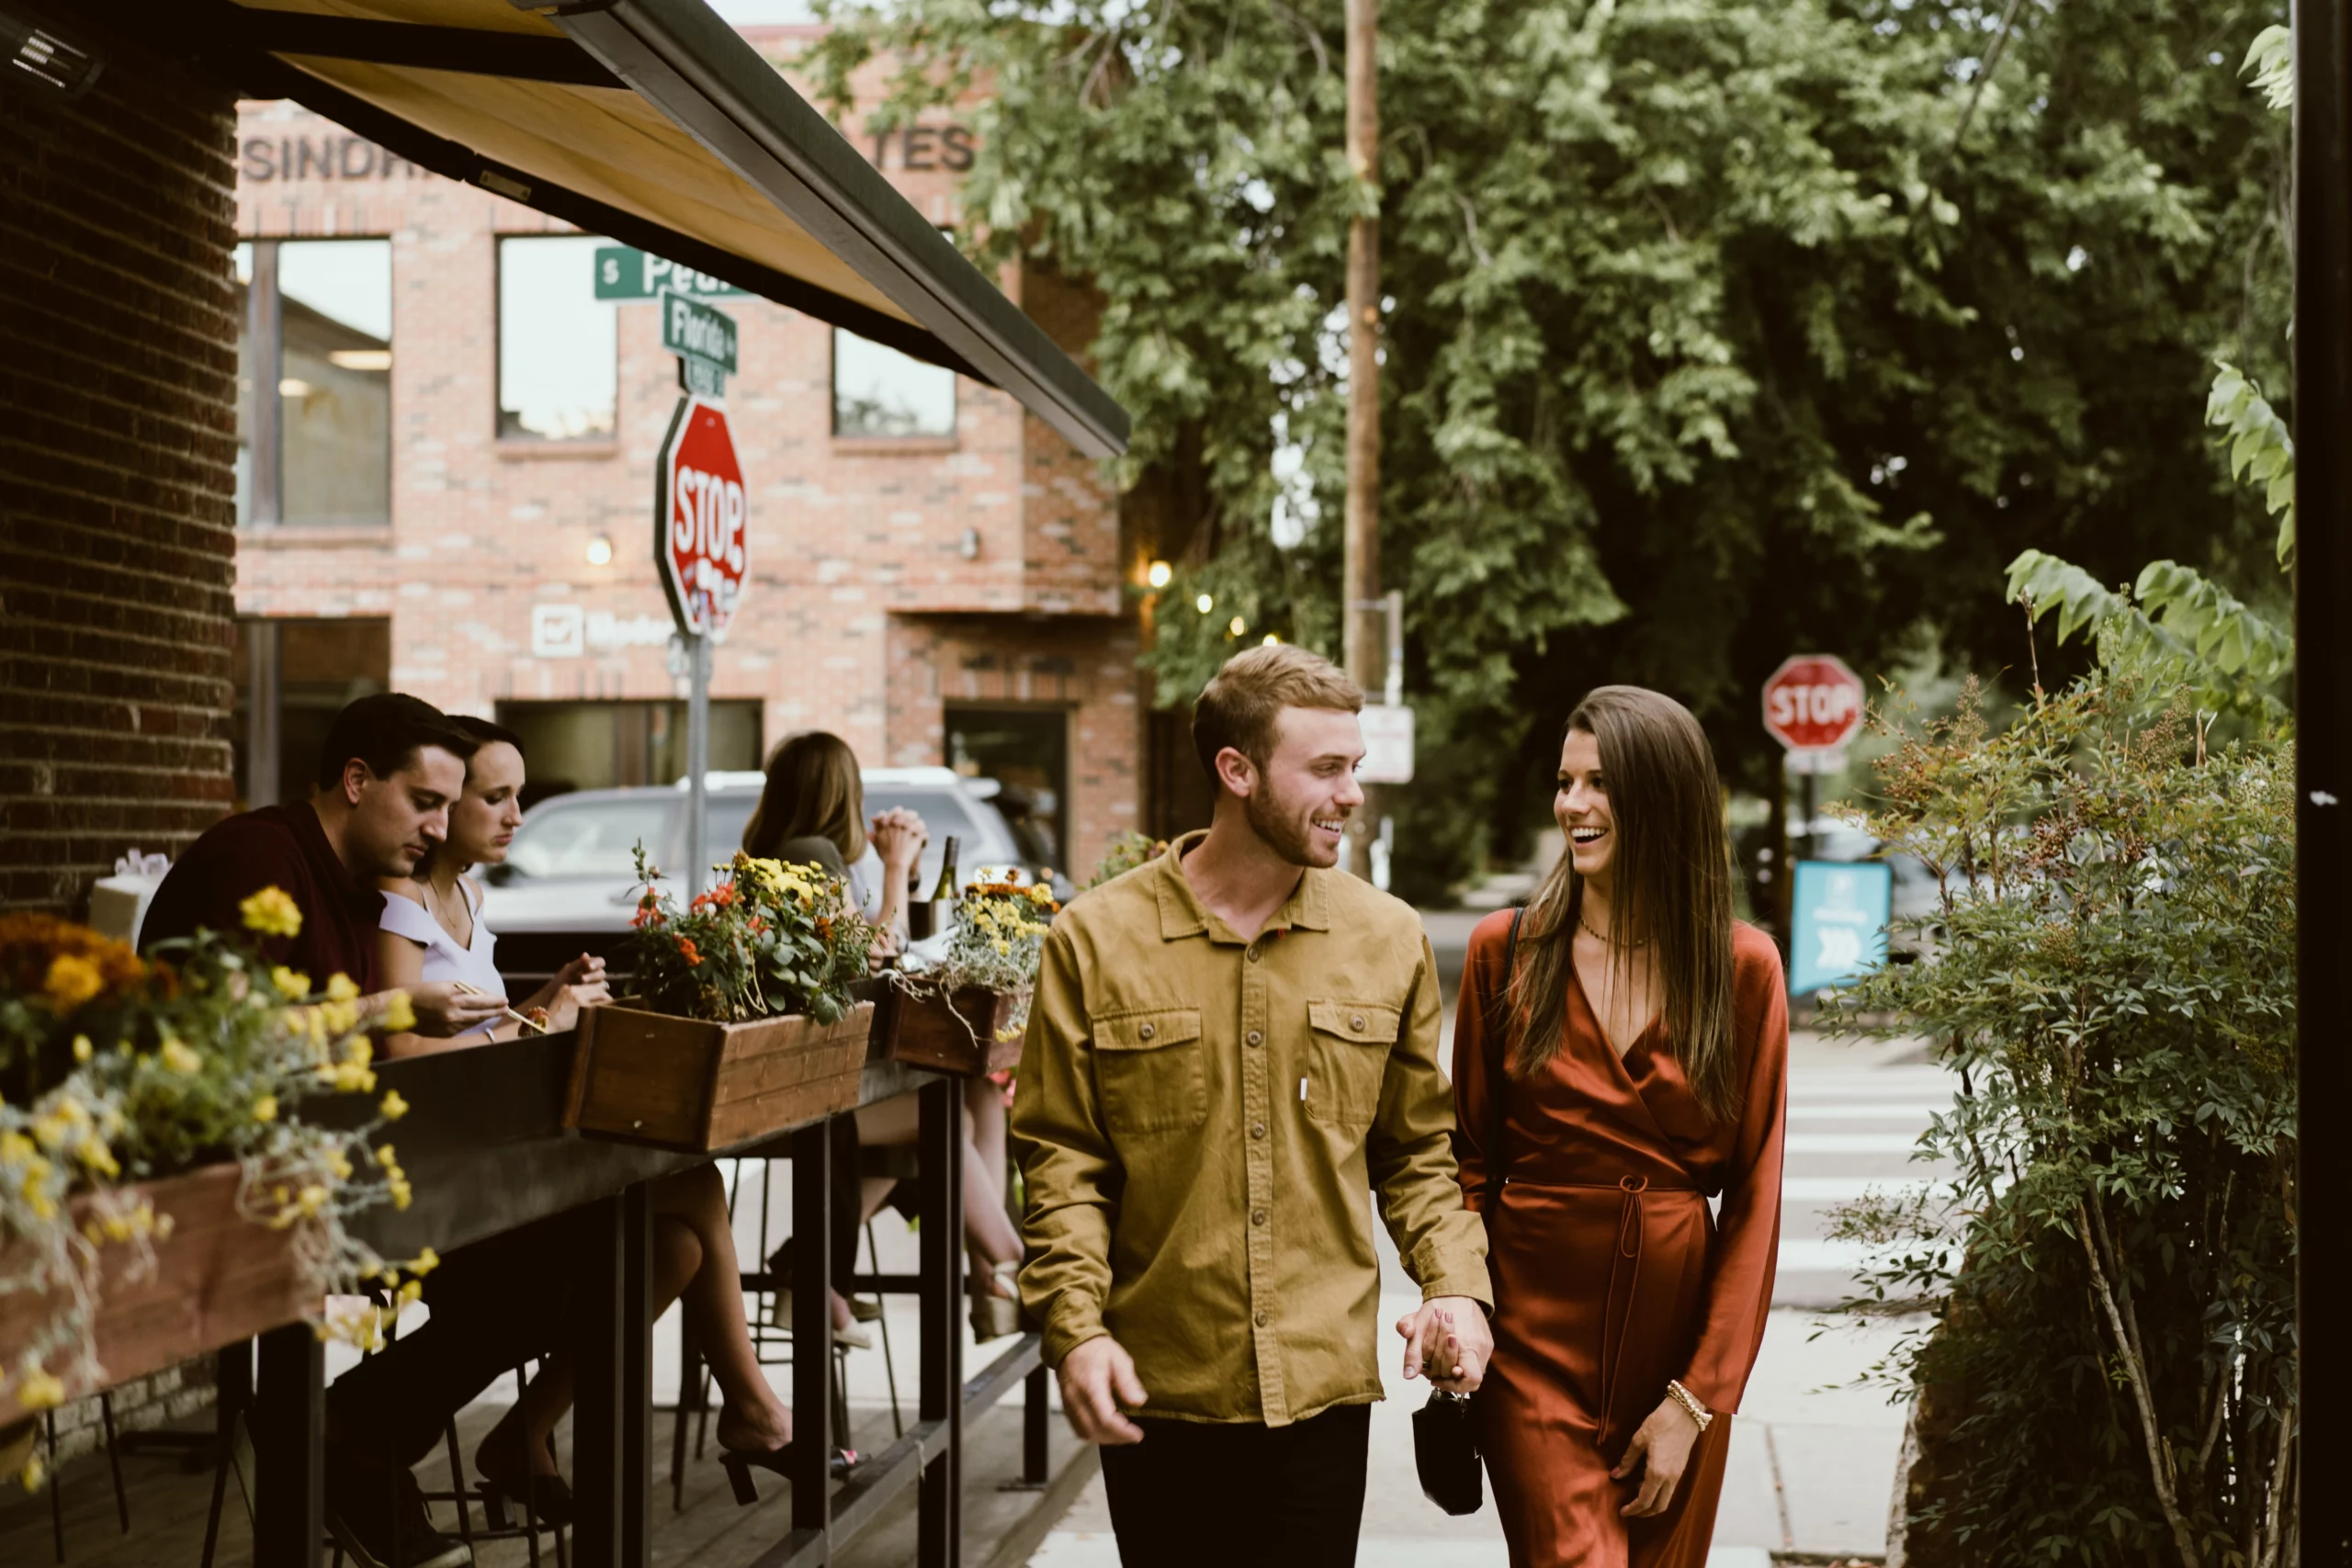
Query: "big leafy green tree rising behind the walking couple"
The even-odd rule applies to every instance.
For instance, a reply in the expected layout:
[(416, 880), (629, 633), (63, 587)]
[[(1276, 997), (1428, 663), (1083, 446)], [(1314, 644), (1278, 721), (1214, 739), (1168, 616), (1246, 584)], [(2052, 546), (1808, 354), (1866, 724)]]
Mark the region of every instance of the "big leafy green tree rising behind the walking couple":
[(1378, 200), (1425, 893), (1508, 846), (1590, 684), (1675, 691), (1757, 785), (1790, 651), (2013, 663), (2013, 607), (1955, 583), (2027, 543), (2246, 592), (2260, 512), (2194, 395), (2213, 353), (2281, 369), (2286, 143), (2234, 68), (2277, 12), (1390, 0), (1376, 190), (1338, 0), (842, 0), (814, 63), (847, 103), (891, 52), (884, 118), (978, 92), (967, 244), (1105, 301), (1122, 480), (1174, 496), (1164, 701), (1263, 632), (1336, 649), (1336, 308)]

